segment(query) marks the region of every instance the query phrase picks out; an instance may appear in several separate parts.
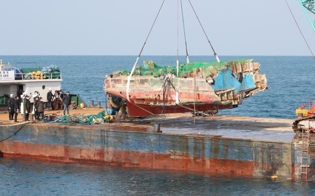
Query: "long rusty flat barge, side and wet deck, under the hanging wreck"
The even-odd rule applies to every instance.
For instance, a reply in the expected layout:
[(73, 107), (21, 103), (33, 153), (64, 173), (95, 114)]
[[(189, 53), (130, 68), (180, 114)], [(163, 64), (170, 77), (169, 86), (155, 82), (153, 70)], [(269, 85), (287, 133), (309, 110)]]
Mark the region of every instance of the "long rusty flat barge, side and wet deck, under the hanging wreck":
[[(166, 119), (161, 118), (163, 116), (152, 116), (105, 125), (0, 126), (0, 154), (124, 167), (303, 179), (300, 169), (304, 157), (303, 140), (292, 131), (293, 120), (213, 116), (196, 117), (194, 125), (189, 114), (169, 114)], [(153, 123), (161, 121), (162, 133), (157, 133)], [(1, 120), (1, 123), (5, 122)], [(308, 152), (307, 178), (315, 180), (314, 143), (308, 145)]]

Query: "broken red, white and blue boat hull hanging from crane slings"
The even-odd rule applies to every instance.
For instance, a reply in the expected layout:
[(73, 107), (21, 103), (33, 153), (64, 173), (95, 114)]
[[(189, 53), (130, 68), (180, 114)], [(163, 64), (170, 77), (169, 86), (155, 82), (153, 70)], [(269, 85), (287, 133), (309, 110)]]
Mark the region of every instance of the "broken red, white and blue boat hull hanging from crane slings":
[(127, 76), (106, 76), (104, 89), (127, 100), (130, 116), (144, 116), (232, 109), (267, 88), (266, 76), (259, 74), (260, 65), (252, 60), (227, 63), (221, 71), (211, 66), (209, 76), (208, 68), (199, 68), (185, 78), (132, 76), (128, 95)]

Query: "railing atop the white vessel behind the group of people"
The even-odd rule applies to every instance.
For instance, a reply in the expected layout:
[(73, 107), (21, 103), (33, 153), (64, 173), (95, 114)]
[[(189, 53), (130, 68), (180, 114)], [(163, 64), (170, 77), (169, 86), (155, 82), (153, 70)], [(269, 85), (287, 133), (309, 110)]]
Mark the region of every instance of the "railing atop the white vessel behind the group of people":
[(15, 80), (47, 80), (62, 79), (61, 72), (15, 73)]

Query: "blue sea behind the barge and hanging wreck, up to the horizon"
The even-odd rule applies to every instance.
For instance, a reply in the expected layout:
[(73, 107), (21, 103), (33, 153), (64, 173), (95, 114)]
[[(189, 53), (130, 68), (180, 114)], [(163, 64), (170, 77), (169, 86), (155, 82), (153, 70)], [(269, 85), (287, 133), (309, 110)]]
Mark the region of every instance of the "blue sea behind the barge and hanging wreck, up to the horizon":
[[(37, 62), (58, 65), (63, 72), (63, 90), (80, 94), (86, 103), (105, 100), (104, 77), (114, 70), (131, 70), (135, 56), (0, 56), (3, 62)], [(294, 118), (295, 109), (314, 97), (315, 61), (310, 56), (220, 56), (221, 60), (254, 58), (267, 75), (269, 89), (243, 102), (239, 108), (220, 114)], [(175, 56), (144, 56), (158, 65), (173, 65)], [(181, 60), (184, 62), (185, 57)], [(212, 56), (190, 56), (190, 61), (214, 61)], [(18, 65), (26, 67), (30, 65)], [(35, 65), (34, 65), (35, 66)]]

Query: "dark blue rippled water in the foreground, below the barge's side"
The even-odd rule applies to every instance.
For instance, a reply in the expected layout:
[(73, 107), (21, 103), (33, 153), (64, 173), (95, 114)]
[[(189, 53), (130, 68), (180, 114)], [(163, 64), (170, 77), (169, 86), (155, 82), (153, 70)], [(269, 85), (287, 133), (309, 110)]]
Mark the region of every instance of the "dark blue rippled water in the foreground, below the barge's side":
[(0, 159), (0, 195), (285, 195), (315, 194), (315, 182), (208, 176), (91, 164)]

